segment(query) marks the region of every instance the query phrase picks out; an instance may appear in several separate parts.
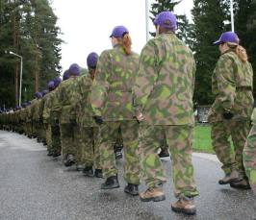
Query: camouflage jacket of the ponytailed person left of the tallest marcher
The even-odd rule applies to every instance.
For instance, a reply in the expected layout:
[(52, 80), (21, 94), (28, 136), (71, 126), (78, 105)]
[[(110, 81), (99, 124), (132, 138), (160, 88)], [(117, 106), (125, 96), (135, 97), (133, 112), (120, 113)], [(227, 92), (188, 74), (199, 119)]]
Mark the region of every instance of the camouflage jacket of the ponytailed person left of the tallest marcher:
[(132, 88), (139, 55), (126, 55), (122, 45), (104, 51), (98, 60), (91, 88), (91, 108), (105, 121), (132, 120)]

